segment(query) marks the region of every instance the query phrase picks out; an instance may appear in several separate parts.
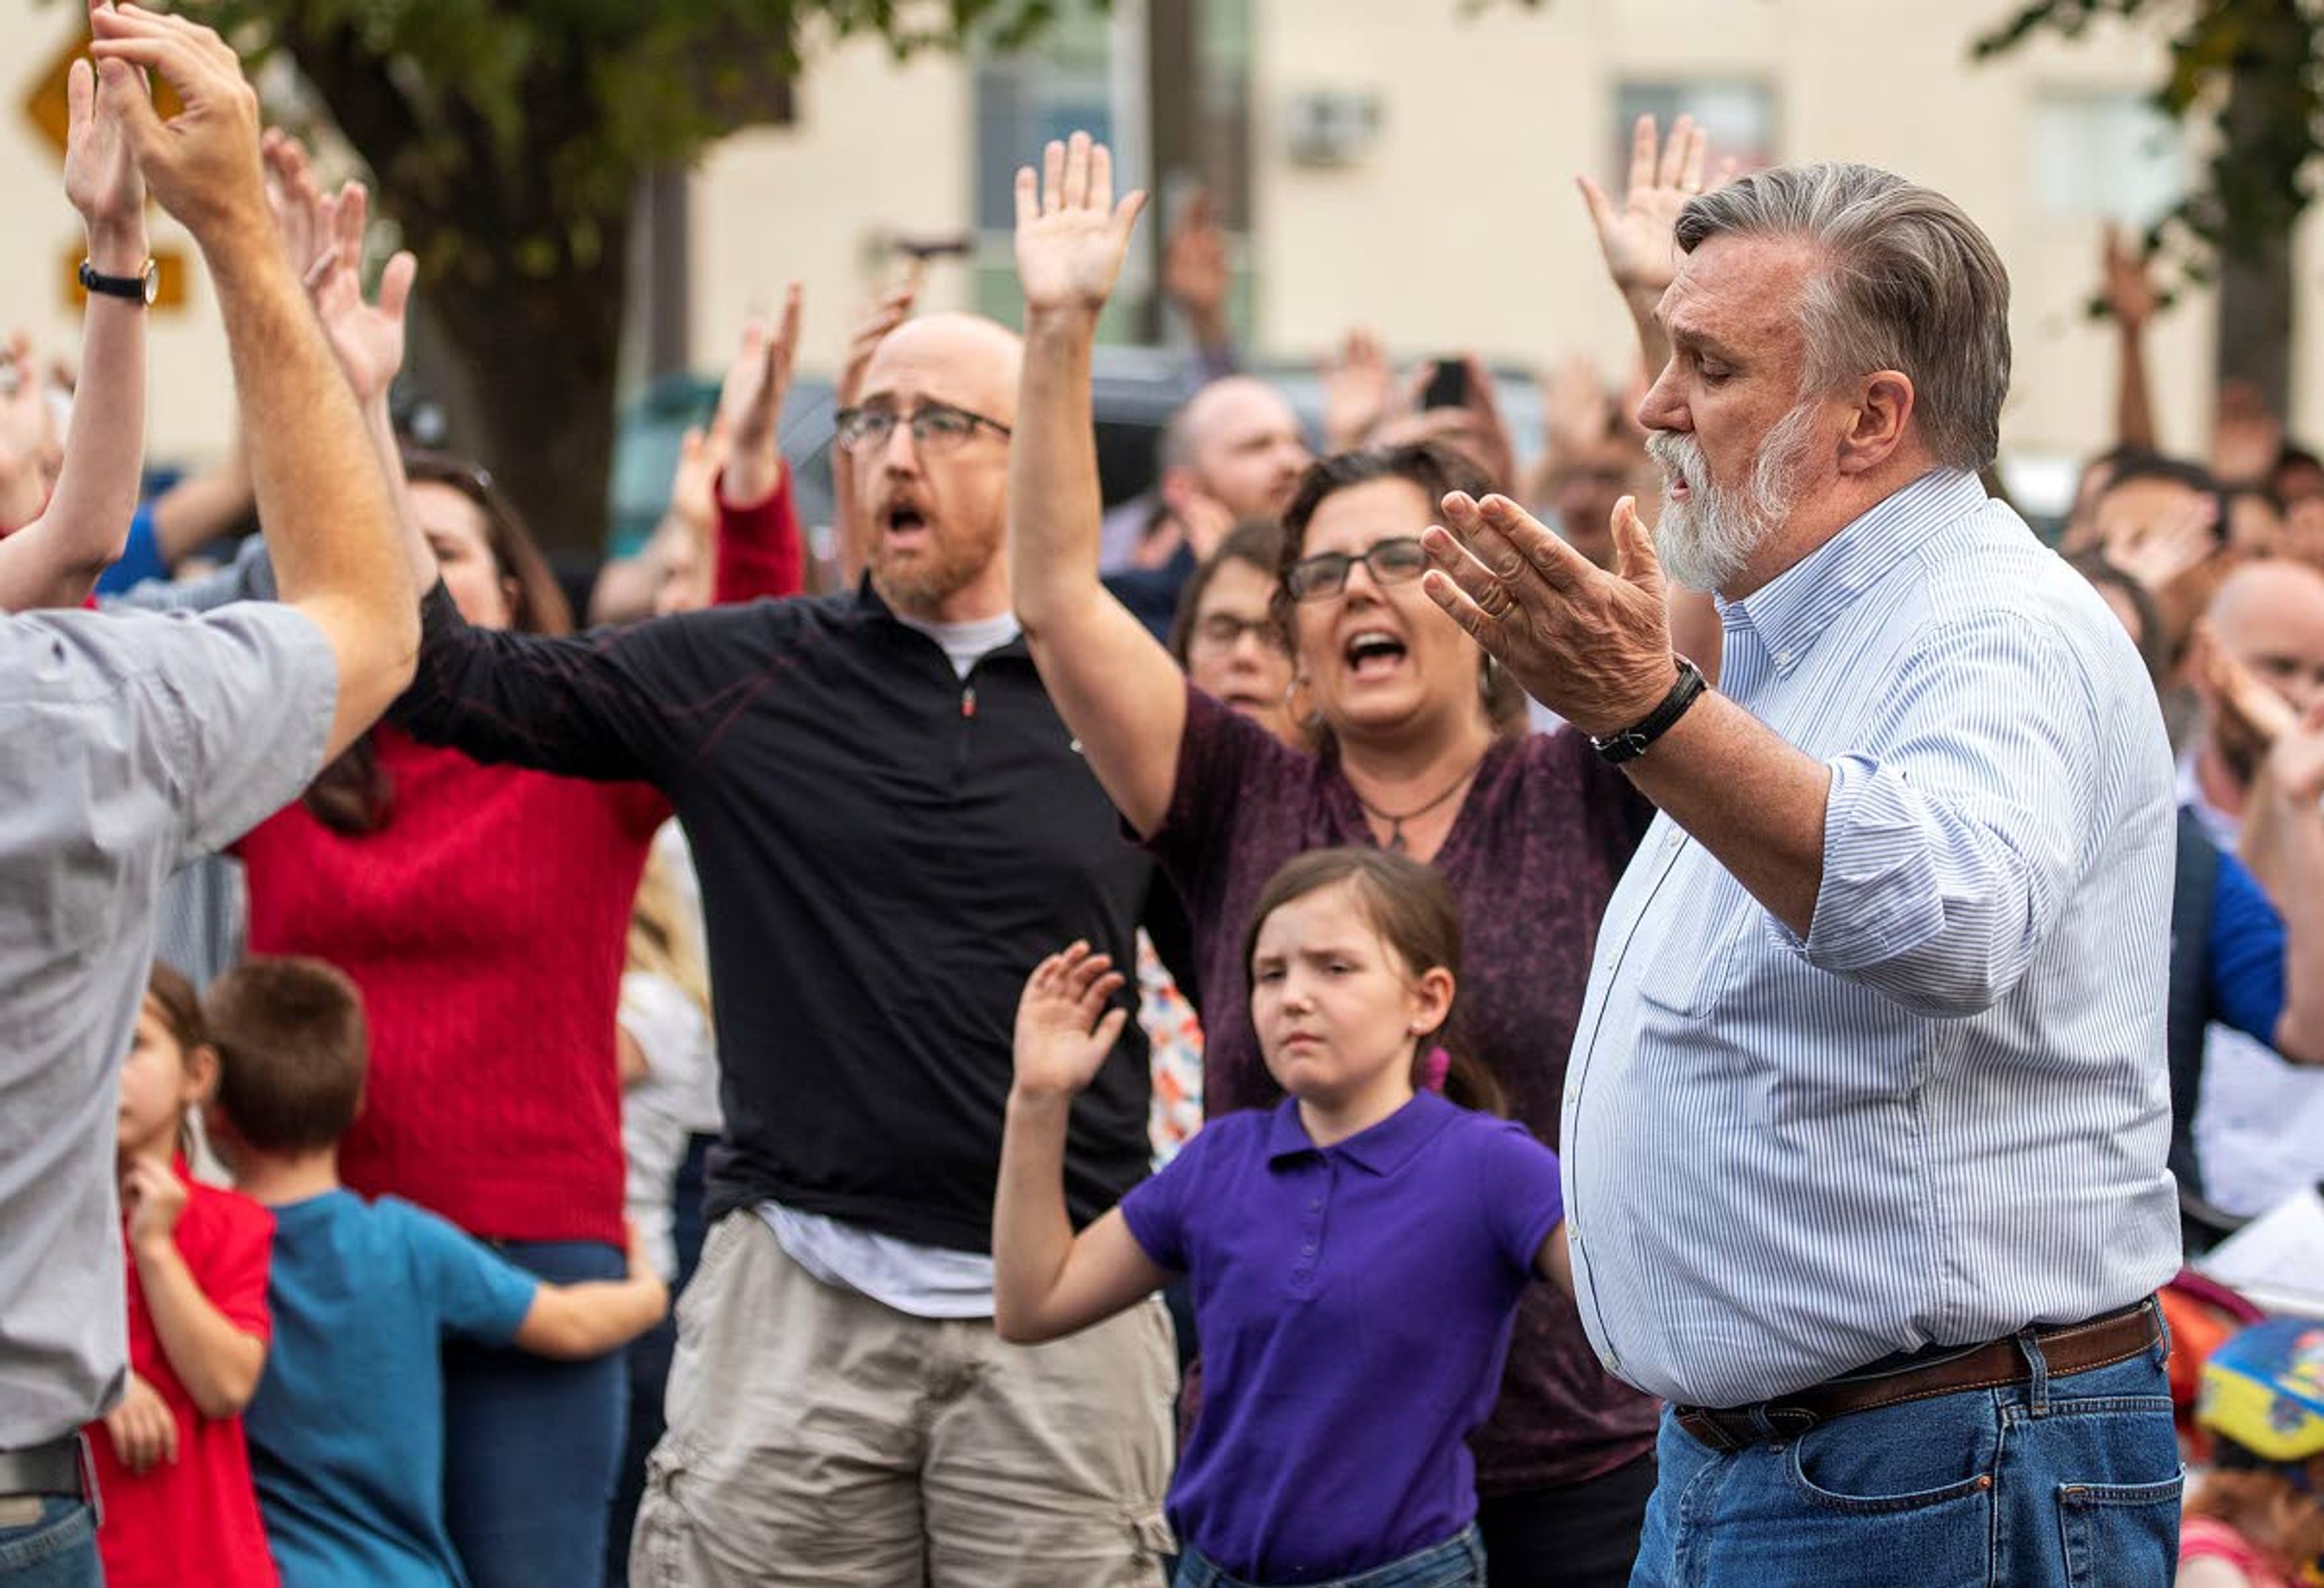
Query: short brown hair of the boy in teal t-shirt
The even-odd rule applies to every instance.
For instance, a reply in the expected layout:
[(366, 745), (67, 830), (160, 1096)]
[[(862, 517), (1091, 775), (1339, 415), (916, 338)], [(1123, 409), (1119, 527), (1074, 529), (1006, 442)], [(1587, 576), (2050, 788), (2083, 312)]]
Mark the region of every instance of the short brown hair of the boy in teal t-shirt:
[(265, 1153), (332, 1146), (363, 1107), (363, 993), (323, 960), (235, 965), (209, 988), (218, 1109)]

